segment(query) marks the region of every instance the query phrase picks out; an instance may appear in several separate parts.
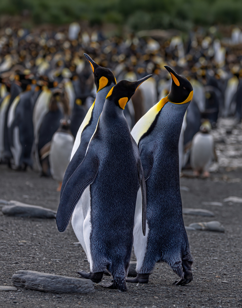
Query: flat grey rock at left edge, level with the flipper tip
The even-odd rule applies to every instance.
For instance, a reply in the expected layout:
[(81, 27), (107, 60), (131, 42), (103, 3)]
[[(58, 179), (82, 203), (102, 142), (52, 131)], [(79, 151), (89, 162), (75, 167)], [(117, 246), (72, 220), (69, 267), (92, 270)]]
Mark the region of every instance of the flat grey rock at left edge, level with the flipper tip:
[(16, 217), (36, 217), (36, 218), (55, 218), (56, 212), (42, 206), (29, 205), (11, 200), (11, 205), (5, 205), (2, 213), (8, 216)]

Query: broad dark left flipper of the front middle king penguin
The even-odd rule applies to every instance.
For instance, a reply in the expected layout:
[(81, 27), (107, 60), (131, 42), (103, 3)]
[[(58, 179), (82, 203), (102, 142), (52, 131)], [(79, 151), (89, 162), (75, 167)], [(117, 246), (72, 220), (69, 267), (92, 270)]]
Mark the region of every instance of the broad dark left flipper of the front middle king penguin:
[(99, 159), (92, 151), (88, 151), (84, 160), (67, 181), (56, 214), (56, 224), (60, 232), (64, 232), (67, 228), (84, 190), (96, 179), (98, 167)]

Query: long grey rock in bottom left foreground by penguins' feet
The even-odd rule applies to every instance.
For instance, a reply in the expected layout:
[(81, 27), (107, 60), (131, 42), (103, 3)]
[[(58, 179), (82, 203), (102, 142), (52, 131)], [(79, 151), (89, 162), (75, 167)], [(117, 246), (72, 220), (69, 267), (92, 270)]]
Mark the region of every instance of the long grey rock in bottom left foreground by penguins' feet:
[(14, 286), (50, 293), (90, 293), (94, 283), (80, 279), (31, 270), (18, 270), (12, 277)]

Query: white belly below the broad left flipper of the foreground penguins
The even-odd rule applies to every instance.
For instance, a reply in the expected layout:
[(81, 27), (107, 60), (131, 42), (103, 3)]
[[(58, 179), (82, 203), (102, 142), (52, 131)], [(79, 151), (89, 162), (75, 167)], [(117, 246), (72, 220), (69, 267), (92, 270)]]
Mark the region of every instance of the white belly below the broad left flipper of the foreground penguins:
[(92, 271), (93, 262), (90, 245), (90, 235), (92, 230), (90, 185), (84, 190), (73, 211), (72, 228), (87, 255), (90, 269)]

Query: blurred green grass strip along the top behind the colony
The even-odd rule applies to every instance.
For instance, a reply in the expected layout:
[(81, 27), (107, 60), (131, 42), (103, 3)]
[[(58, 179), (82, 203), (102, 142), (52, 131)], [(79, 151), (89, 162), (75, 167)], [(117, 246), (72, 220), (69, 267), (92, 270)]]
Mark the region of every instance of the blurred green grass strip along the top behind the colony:
[(64, 24), (87, 20), (132, 30), (242, 23), (242, 0), (1, 0), (0, 14), (28, 11), (33, 23)]

